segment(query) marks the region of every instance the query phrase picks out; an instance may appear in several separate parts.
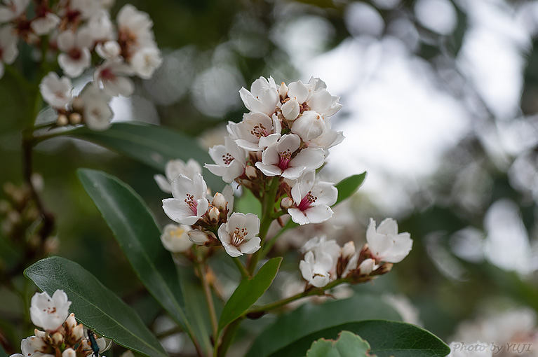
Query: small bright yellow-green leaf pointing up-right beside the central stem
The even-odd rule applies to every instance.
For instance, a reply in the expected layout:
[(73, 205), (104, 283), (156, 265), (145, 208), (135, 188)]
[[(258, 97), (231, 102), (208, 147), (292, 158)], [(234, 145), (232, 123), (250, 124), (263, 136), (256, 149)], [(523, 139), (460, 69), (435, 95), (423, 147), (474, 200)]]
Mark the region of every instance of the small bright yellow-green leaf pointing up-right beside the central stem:
[(247, 311), (271, 286), (282, 257), (266, 262), (251, 279), (243, 279), (222, 309), (219, 331)]

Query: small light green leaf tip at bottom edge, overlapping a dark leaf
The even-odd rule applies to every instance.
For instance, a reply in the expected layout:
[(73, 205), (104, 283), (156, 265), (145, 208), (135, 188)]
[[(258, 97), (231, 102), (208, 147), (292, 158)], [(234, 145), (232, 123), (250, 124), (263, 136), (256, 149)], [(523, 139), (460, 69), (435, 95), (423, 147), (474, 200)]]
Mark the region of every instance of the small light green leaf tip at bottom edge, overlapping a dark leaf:
[(318, 339), (307, 351), (307, 357), (375, 357), (370, 345), (353, 332), (342, 331), (338, 339)]

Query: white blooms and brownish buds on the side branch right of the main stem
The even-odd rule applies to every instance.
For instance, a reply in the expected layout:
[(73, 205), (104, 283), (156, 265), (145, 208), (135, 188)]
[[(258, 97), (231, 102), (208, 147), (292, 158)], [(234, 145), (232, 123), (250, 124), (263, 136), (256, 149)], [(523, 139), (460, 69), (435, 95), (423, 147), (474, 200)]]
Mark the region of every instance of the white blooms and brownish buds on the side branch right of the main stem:
[(345, 279), (349, 283), (363, 283), (376, 276), (390, 272), (396, 262), (401, 262), (412, 248), (408, 232), (398, 234), (398, 224), (386, 218), (376, 229), (370, 219), (366, 230), (367, 243), (356, 251), (353, 241), (342, 248), (333, 239), (315, 237), (307, 241), (301, 251), (304, 260), (300, 262), (302, 277), (309, 286), (323, 288), (330, 281)]

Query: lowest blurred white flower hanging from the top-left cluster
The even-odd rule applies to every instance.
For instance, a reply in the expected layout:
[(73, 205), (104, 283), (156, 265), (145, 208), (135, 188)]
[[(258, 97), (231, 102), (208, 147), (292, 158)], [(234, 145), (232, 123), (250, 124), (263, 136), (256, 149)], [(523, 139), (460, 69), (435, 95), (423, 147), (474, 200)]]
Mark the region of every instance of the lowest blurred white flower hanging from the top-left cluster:
[(114, 113), (109, 106), (110, 97), (90, 82), (83, 88), (79, 98), (83, 106), (83, 118), (91, 130), (106, 130)]

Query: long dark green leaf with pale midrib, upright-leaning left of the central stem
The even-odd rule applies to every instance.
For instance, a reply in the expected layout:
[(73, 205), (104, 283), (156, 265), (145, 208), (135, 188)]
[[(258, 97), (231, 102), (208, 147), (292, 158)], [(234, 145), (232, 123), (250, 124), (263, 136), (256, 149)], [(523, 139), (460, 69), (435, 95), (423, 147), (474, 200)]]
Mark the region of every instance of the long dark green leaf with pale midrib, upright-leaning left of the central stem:
[(177, 323), (191, 330), (183, 312), (175, 263), (163, 248), (161, 230), (142, 198), (126, 183), (105, 172), (79, 169), (77, 174), (149, 293)]

